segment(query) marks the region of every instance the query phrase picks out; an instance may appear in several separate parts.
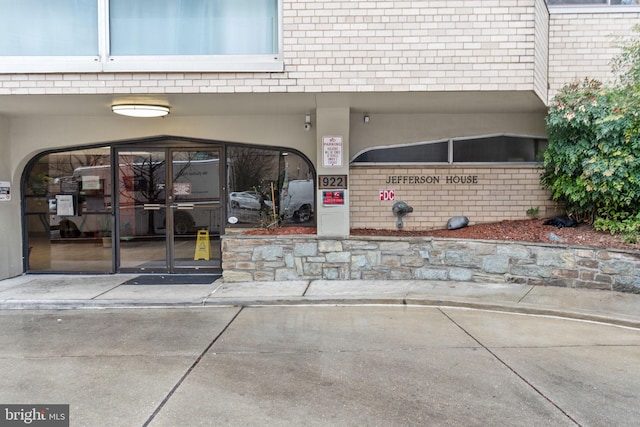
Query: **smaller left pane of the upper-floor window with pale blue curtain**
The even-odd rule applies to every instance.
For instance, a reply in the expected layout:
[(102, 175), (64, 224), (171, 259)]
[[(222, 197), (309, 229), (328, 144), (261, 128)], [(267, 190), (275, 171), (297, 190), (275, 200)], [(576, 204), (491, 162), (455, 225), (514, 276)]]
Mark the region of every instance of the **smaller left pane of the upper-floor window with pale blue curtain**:
[(0, 55), (95, 56), (96, 0), (0, 0)]

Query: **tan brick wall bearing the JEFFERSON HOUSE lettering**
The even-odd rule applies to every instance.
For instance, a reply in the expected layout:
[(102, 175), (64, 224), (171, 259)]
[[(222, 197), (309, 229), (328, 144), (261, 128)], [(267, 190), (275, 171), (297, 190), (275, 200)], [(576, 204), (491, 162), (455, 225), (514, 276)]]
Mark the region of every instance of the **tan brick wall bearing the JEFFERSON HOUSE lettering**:
[(536, 207), (540, 217), (559, 214), (539, 182), (534, 166), (351, 167), (351, 228), (396, 228), (394, 202), (380, 201), (380, 190), (394, 190), (396, 201), (413, 207), (404, 218), (406, 230), (446, 228), (449, 218), (459, 215), (477, 224), (526, 219), (527, 210)]

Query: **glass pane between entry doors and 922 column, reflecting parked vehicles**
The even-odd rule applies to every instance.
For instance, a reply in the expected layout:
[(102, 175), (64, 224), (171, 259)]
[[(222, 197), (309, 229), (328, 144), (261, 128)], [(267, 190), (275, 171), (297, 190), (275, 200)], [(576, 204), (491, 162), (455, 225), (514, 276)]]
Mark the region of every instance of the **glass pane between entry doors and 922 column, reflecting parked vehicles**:
[(313, 223), (315, 181), (302, 156), (274, 149), (227, 149), (227, 216), (266, 227), (274, 222)]

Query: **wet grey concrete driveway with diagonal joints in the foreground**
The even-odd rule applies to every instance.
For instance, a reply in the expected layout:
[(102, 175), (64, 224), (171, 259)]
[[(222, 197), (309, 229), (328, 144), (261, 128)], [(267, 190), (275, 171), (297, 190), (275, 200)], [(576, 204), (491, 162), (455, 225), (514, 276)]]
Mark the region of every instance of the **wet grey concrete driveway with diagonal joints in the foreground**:
[(0, 360), (0, 403), (72, 426), (640, 419), (640, 330), (467, 308), (3, 310)]

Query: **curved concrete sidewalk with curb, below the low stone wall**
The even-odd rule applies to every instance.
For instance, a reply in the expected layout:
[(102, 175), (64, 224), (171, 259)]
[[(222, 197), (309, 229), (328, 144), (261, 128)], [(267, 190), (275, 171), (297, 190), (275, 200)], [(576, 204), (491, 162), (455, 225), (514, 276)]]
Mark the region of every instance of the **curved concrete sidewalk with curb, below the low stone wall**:
[(0, 309), (397, 304), (546, 314), (640, 327), (640, 295), (510, 283), (285, 281), (131, 285), (136, 275), (24, 275), (0, 281)]

